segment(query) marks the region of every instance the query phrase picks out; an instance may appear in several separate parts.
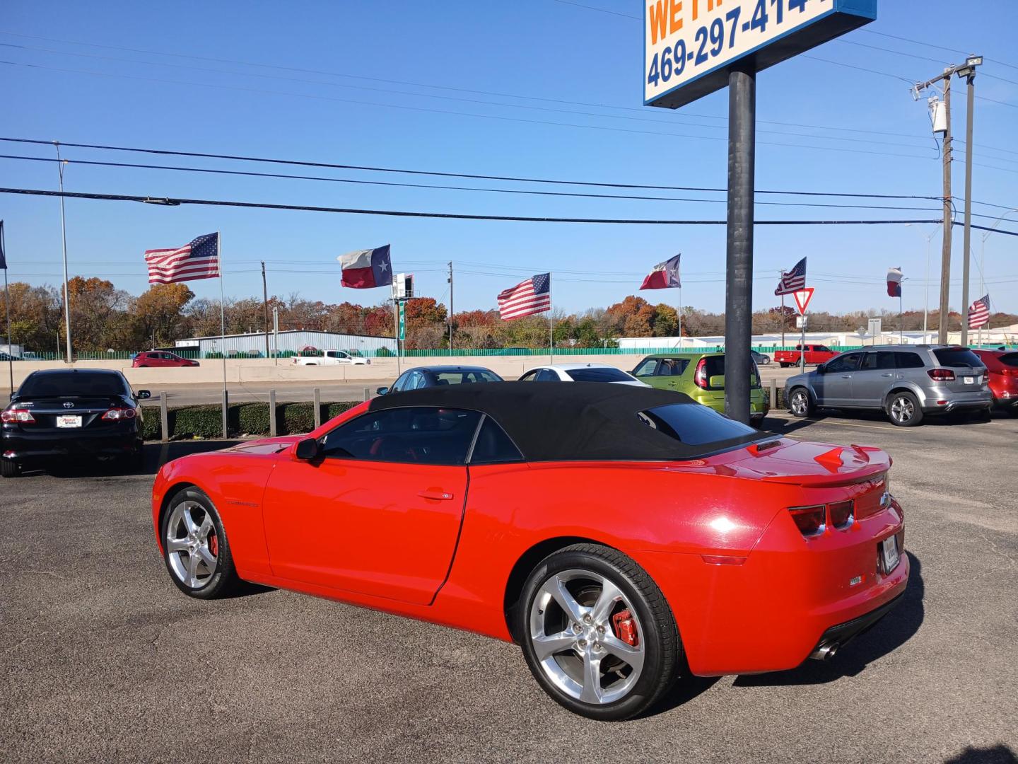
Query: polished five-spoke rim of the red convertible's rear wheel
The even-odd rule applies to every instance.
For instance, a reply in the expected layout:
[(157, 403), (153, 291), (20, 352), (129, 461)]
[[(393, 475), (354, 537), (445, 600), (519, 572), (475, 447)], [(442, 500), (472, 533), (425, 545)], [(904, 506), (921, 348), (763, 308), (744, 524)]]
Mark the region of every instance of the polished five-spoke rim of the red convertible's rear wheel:
[[(616, 636), (613, 616), (624, 611), (634, 622), (635, 644)], [(570, 569), (550, 577), (533, 598), (529, 626), (545, 675), (581, 703), (614, 703), (639, 680), (642, 625), (618, 587), (600, 574)]]

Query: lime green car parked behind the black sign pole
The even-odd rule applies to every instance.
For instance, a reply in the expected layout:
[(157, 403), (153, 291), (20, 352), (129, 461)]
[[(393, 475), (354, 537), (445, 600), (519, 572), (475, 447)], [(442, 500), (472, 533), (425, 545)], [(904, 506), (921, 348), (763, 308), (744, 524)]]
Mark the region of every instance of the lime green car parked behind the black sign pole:
[[(760, 385), (760, 373), (754, 362), (749, 377), (749, 421), (759, 427), (771, 410), (771, 401)], [(662, 390), (684, 392), (697, 403), (725, 413), (725, 353), (660, 352), (647, 356), (636, 365), (633, 376), (640, 382)]]

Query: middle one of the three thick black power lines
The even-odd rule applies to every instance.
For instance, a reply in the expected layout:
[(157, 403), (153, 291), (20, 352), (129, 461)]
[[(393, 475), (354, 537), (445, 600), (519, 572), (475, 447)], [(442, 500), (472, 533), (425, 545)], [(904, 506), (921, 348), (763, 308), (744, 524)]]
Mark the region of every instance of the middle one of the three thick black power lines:
[[(292, 175), (292, 174), (276, 173), (276, 172), (218, 170), (207, 167), (174, 167), (170, 165), (134, 164), (130, 162), (98, 162), (98, 161), (90, 161), (82, 159), (67, 159), (66, 157), (62, 159), (57, 159), (56, 157), (21, 157), (10, 154), (0, 154), (0, 159), (13, 159), (13, 160), (24, 160), (32, 162), (63, 163), (63, 164), (81, 164), (81, 165), (93, 165), (100, 167), (126, 167), (132, 169), (147, 169), (147, 170), (177, 170), (181, 172), (201, 172), (201, 173), (211, 173), (216, 175), (240, 175), (245, 177), (268, 177), (268, 178), (282, 178), (290, 180), (325, 180), (336, 183), (384, 185), (384, 186), (396, 186), (401, 188), (430, 188), (430, 189), (440, 189), (440, 190), (484, 192), (492, 194), (522, 194), (522, 195), (534, 195), (542, 197), (572, 197), (572, 198), (582, 198), (582, 199), (624, 199), (624, 200), (639, 200), (639, 201), (654, 201), (654, 202), (727, 204), (727, 201), (724, 199), (690, 199), (684, 197), (641, 197), (641, 196), (623, 195), (623, 194), (578, 194), (575, 192), (541, 192), (541, 190), (530, 190), (522, 188), (477, 188), (465, 185), (439, 185), (434, 183), (395, 183), (383, 180), (356, 180), (350, 178), (325, 177), (321, 175)], [(924, 207), (888, 207), (881, 205), (815, 204), (809, 202), (756, 202), (756, 204), (774, 206), (774, 207), (827, 207), (827, 208), (842, 208), (842, 209), (855, 209), (855, 210), (909, 210), (914, 212), (937, 212), (937, 210), (930, 210)], [(993, 217), (993, 216), (986, 215), (985, 217)]]

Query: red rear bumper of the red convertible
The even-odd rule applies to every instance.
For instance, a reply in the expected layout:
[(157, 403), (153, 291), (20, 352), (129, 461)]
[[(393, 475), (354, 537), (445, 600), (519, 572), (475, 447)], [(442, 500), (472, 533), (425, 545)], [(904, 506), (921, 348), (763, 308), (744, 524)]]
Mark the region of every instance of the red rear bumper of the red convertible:
[[(672, 606), (692, 673), (795, 668), (829, 633), (839, 626), (846, 637), (861, 633), (905, 591), (909, 559), (897, 502), (809, 540), (785, 521), (779, 513), (742, 563), (709, 564), (699, 554), (639, 555)], [(885, 575), (878, 546), (889, 536), (898, 537), (900, 561)]]

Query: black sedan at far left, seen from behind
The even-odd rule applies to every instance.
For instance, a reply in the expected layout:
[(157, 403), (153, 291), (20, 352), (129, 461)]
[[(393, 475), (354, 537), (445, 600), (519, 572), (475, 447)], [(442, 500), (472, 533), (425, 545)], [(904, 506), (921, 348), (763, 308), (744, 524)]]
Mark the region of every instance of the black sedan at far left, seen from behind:
[(142, 408), (124, 376), (105, 369), (33, 372), (0, 414), (0, 475), (57, 458), (118, 458), (142, 462)]

